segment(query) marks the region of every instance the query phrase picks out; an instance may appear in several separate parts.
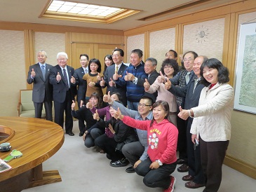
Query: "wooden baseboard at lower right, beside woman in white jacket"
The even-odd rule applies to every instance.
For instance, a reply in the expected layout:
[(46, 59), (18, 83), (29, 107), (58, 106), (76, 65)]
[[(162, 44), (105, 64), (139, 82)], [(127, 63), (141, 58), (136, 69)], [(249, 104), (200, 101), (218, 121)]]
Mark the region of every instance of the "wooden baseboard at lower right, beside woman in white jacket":
[(226, 156), (224, 159), (224, 165), (227, 165), (238, 172), (246, 174), (248, 177), (252, 177), (252, 179), (256, 179), (256, 167), (245, 163), (242, 160), (238, 160), (232, 156)]

